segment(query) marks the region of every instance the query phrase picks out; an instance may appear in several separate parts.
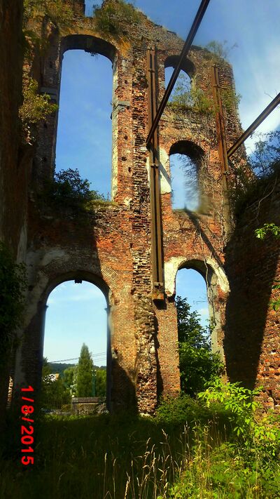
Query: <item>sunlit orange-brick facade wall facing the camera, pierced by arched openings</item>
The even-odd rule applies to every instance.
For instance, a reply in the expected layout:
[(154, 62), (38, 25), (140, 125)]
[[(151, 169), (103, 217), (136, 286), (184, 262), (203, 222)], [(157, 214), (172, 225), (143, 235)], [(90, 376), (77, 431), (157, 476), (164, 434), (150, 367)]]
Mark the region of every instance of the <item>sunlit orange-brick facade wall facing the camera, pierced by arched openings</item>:
[[(162, 393), (179, 391), (177, 324), (174, 304), (176, 272), (193, 268), (207, 281), (211, 316), (216, 321), (214, 349), (223, 357), (223, 327), (228, 280), (223, 270), (227, 220), (223, 173), (218, 157), (215, 115), (189, 109), (179, 117), (167, 109), (159, 129), (165, 301), (152, 300), (150, 165), (146, 51), (156, 49), (158, 102), (165, 90), (165, 66), (173, 65), (183, 41), (140, 14), (139, 23), (120, 37), (97, 32), (94, 20), (83, 16), (58, 32), (44, 20), (48, 51), (34, 54), (31, 74), (41, 91), (59, 100), (62, 57), (83, 48), (113, 63), (112, 203), (96, 204), (92, 213), (55, 210), (40, 204), (38, 192), (51, 178), (55, 161), (57, 115), (38, 130), (29, 200), (29, 295), (26, 328), (18, 351), (16, 382), (38, 386), (43, 355), (43, 327), (48, 294), (62, 281), (79, 276), (97, 284), (109, 305), (109, 399), (113, 409), (135, 406), (153, 413)], [(118, 4), (118, 2), (116, 2)], [(129, 39), (125, 32), (130, 32)], [(209, 52), (193, 47), (186, 70), (213, 100)], [(38, 72), (41, 68), (41, 72)], [(232, 88), (226, 62), (219, 67), (225, 88)], [(234, 109), (226, 122), (229, 145), (239, 135)], [(173, 149), (172, 149), (173, 147)], [(177, 148), (197, 161), (202, 197), (201, 213), (172, 210), (169, 154)], [(183, 149), (182, 149), (183, 148)], [(177, 150), (176, 149), (176, 150)]]

